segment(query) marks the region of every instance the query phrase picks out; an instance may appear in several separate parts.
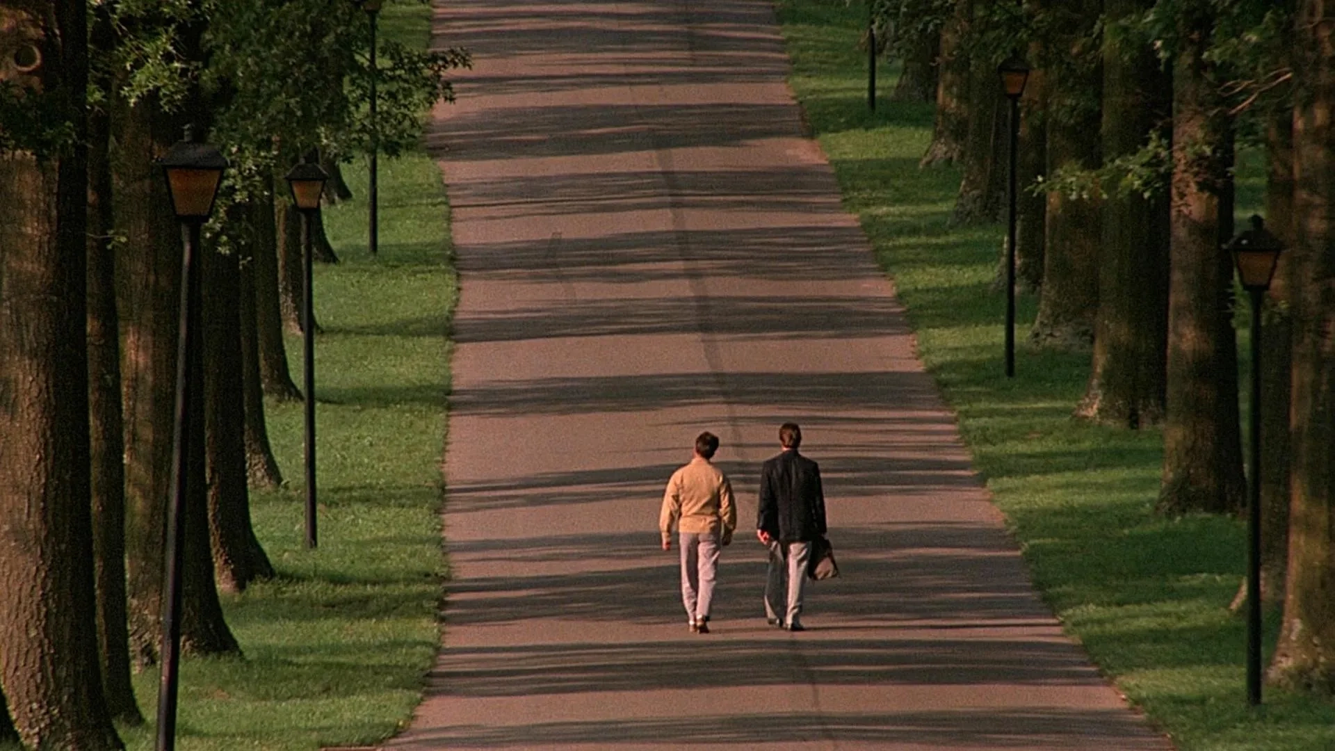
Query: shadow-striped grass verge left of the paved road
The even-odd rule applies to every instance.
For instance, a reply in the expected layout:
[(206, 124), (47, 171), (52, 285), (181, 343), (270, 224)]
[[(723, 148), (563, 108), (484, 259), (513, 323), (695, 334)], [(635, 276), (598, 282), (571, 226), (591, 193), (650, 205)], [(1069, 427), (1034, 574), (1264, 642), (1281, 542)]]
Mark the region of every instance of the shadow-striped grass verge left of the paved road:
[[(383, 29), (425, 44), (430, 9), (388, 4)], [(375, 743), (417, 706), (435, 657), (441, 473), (455, 302), (449, 206), (425, 152), (380, 160), (379, 257), (366, 253), (366, 170), (356, 199), (326, 211), (342, 259), (315, 270), (319, 548), (303, 547), (300, 404), (268, 404), (288, 484), (252, 493), (256, 533), (279, 576), (223, 607), (243, 660), (182, 665), (183, 751), (311, 750)], [(300, 342), (290, 339), (292, 373)], [(156, 706), (156, 673), (136, 676)], [(125, 731), (129, 748), (151, 730)]]

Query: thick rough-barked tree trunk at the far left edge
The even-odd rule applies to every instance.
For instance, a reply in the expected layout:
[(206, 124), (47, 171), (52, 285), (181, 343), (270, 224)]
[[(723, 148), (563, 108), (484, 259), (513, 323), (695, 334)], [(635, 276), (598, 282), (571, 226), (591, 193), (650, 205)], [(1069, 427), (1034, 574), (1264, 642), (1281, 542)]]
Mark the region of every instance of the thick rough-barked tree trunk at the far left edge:
[(73, 0), (44, 5), (41, 16), (29, 8), (0, 3), (0, 25), (11, 40), (31, 39), (39, 60), (23, 72), (0, 68), (0, 83), (40, 91), (75, 122), (59, 158), (0, 156), (0, 691), (29, 748), (120, 750), (88, 628), (97, 611), (84, 305), (87, 8)]

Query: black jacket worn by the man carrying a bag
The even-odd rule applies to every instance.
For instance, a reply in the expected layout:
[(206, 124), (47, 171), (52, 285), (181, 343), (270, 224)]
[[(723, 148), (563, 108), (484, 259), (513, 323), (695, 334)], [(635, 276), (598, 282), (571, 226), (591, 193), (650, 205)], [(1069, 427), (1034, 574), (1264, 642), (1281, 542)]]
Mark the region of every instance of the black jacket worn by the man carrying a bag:
[(761, 465), (756, 528), (780, 543), (809, 543), (825, 535), (821, 468), (796, 450)]

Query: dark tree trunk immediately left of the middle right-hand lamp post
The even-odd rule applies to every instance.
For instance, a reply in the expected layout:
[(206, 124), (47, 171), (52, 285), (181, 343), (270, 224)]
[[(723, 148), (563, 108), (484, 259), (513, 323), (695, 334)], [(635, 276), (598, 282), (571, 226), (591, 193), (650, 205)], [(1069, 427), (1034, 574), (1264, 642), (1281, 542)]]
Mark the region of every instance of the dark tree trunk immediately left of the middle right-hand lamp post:
[(964, 175), (951, 222), (996, 222), (1005, 211), (1007, 134), (1009, 103), (1001, 92), (996, 67), (985, 56), (973, 56), (969, 67), (968, 136), (964, 140)]

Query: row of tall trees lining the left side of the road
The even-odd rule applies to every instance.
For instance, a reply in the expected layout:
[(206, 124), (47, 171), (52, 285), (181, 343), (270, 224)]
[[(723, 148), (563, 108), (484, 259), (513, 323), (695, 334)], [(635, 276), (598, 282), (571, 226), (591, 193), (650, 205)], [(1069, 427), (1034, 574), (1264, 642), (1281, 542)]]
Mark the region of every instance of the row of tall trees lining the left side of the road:
[(113, 720), (143, 722), (182, 282), (154, 160), (187, 124), (234, 168), (203, 254), (182, 641), (240, 655), (218, 592), (272, 575), (247, 494), (280, 482), (263, 396), (302, 398), (283, 351), (299, 224), (275, 175), (303, 156), (336, 175), (372, 135), (394, 155), (467, 64), (382, 43), (372, 124), (367, 29), (354, 0), (0, 0), (0, 742), (113, 750)]

